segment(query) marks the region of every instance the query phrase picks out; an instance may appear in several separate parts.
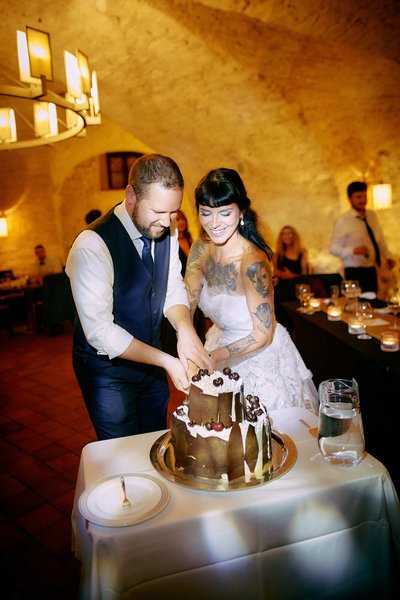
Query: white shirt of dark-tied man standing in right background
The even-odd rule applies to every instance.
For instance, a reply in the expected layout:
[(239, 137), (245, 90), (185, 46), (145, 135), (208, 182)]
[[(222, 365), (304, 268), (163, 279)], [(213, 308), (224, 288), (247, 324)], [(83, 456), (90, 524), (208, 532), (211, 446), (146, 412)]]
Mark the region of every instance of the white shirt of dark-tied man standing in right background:
[[(374, 232), (383, 262), (390, 258), (390, 252), (386, 246), (378, 219), (376, 214), (371, 210), (367, 210), (365, 216), (368, 225)], [(374, 246), (368, 235), (364, 221), (359, 217), (358, 212), (354, 208), (351, 208), (339, 217), (333, 227), (330, 253), (341, 258), (344, 267), (373, 267), (375, 265)], [(368, 248), (368, 256), (354, 254), (353, 250), (357, 246), (366, 246)]]

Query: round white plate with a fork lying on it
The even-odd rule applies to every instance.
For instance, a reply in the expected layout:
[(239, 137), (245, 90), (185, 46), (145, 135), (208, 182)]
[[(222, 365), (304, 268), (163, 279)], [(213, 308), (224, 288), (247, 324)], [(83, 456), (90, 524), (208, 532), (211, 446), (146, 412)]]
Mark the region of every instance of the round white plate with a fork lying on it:
[[(123, 508), (121, 476), (131, 507)], [(169, 501), (169, 490), (163, 481), (144, 473), (123, 473), (97, 481), (79, 498), (80, 513), (96, 525), (126, 527), (158, 515)]]

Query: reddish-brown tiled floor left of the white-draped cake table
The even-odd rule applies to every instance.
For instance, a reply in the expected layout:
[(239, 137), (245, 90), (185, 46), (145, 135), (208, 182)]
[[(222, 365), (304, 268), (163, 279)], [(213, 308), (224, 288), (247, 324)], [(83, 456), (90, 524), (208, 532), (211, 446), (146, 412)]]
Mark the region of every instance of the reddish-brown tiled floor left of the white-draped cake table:
[[(171, 397), (171, 406), (179, 401)], [(71, 366), (71, 329), (0, 331), (1, 589), (7, 600), (75, 600), (70, 515), (95, 434)]]

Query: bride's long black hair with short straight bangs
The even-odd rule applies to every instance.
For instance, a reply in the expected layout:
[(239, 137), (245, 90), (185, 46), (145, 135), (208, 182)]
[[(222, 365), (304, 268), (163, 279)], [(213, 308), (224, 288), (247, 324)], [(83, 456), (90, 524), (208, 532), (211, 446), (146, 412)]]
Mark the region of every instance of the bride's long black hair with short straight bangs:
[(250, 208), (246, 188), (234, 169), (214, 169), (203, 177), (195, 190), (196, 207), (219, 208), (228, 204), (237, 204), (243, 215), (243, 225), (239, 222), (238, 231), (246, 240), (261, 248), (272, 259), (272, 250), (257, 228), (257, 215)]

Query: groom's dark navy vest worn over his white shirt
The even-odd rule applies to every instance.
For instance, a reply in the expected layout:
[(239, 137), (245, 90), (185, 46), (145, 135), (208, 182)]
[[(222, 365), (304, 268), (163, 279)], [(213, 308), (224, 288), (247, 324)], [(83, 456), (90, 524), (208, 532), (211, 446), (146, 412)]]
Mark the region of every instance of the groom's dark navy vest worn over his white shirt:
[[(114, 209), (88, 227), (106, 244), (113, 261), (114, 323), (136, 339), (158, 347), (163, 307), (167, 293), (170, 235), (169, 229), (154, 245), (153, 275), (145, 267), (128, 232), (114, 215)], [(99, 277), (101, 277), (99, 273)], [(74, 327), (74, 360), (84, 361), (90, 369), (110, 377), (138, 381), (152, 367), (142, 363), (99, 355), (89, 345), (79, 319)]]

